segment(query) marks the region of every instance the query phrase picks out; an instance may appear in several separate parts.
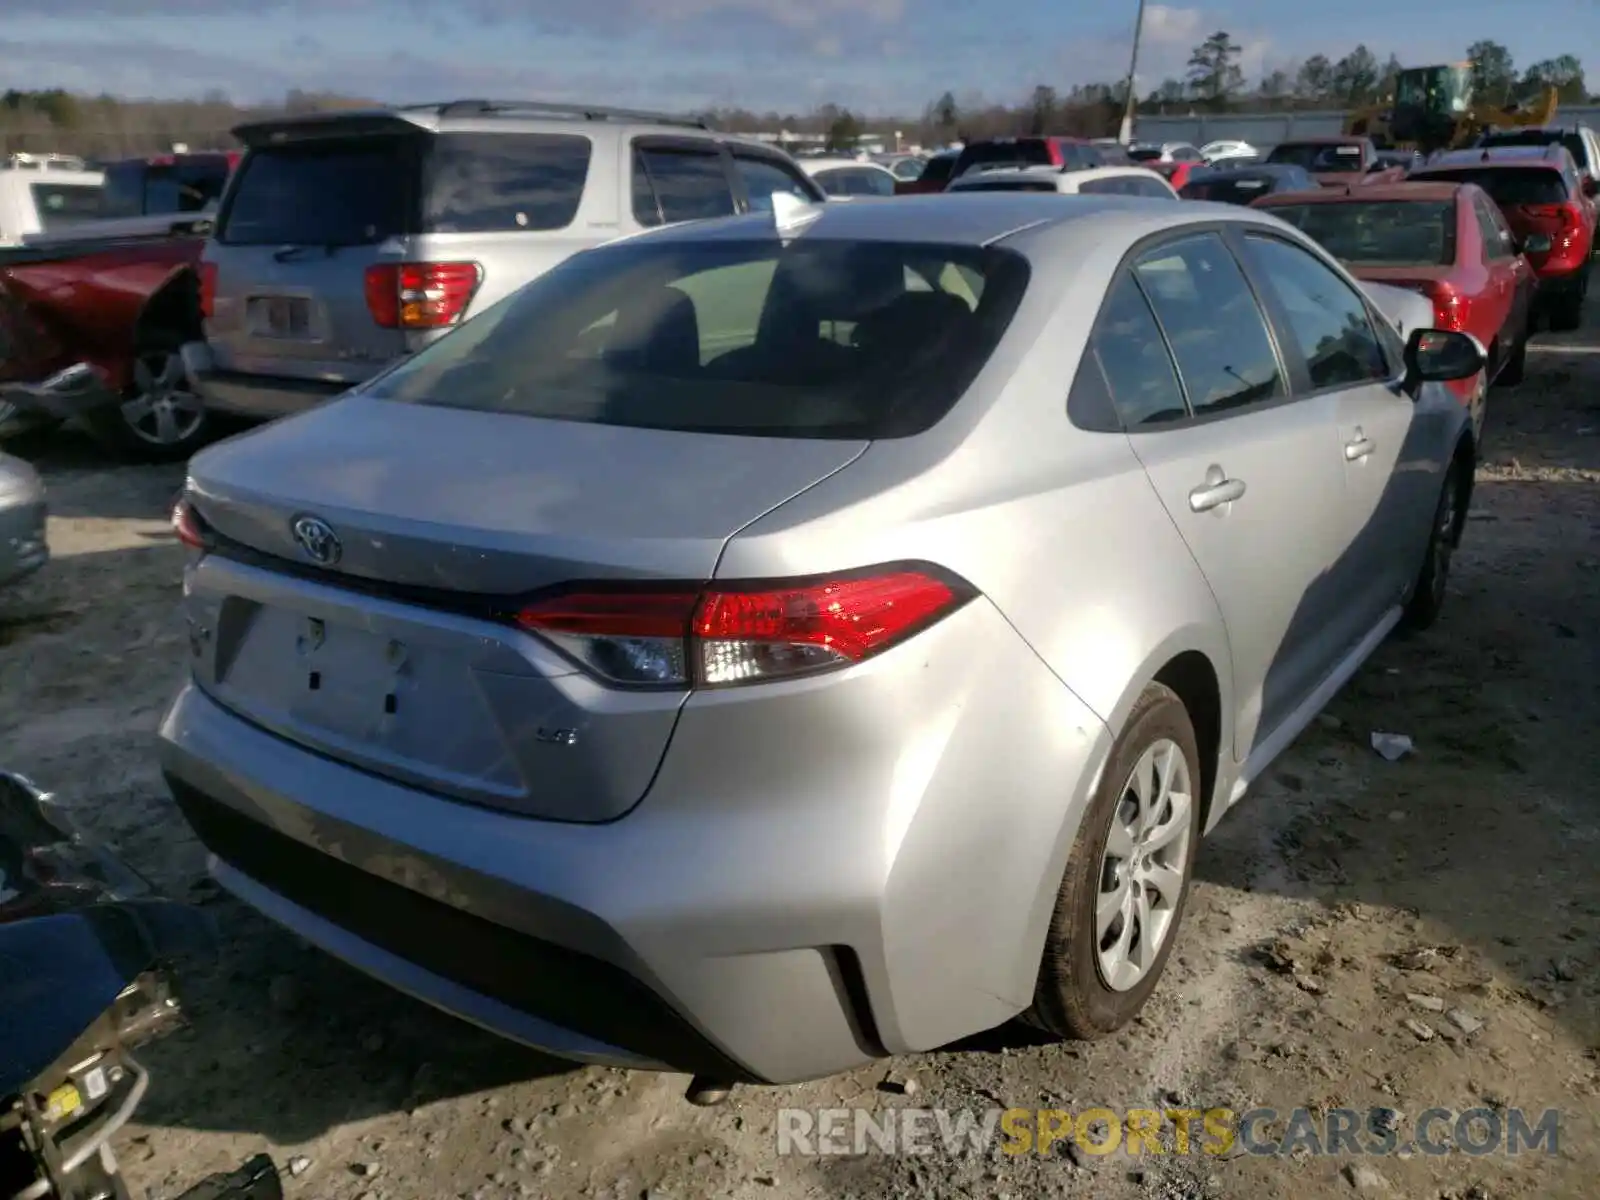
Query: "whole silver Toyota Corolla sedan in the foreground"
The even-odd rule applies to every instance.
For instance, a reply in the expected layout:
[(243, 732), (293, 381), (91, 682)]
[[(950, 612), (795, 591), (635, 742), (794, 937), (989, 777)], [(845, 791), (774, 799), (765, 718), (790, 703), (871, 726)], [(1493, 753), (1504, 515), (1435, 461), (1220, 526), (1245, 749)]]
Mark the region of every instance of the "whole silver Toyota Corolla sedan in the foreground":
[(173, 792), (238, 896), (562, 1056), (1107, 1034), (1202, 834), (1438, 611), (1483, 350), (1251, 210), (776, 208), (198, 454)]

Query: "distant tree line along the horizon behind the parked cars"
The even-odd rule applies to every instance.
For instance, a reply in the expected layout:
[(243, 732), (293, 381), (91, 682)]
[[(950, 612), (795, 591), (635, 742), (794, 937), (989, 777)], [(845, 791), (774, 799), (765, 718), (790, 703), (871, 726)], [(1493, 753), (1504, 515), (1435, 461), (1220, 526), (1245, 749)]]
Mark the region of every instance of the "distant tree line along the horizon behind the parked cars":
[[(1390, 54), (1379, 61), (1365, 45), (1342, 58), (1326, 54), (1285, 64), (1258, 80), (1245, 75), (1240, 45), (1218, 30), (1194, 48), (1182, 77), (1162, 80), (1138, 98), (1141, 114), (1170, 112), (1264, 112), (1282, 109), (1358, 109), (1386, 101), (1394, 91), (1402, 62)], [(1573, 54), (1517, 69), (1510, 51), (1498, 42), (1467, 46), (1474, 93), (1491, 104), (1517, 104), (1554, 86), (1563, 104), (1590, 99), (1582, 64)], [(1406, 64), (1424, 66), (1424, 64)], [(1058, 88), (1037, 83), (1006, 104), (982, 96), (944, 93), (920, 114), (862, 114), (824, 104), (811, 112), (757, 112), (717, 109), (706, 114), (717, 128), (734, 133), (824, 134), (835, 149), (856, 144), (862, 134), (939, 146), (973, 138), (1056, 133), (1064, 136), (1115, 134), (1126, 107), (1122, 80), (1077, 83)], [(162, 154), (173, 144), (192, 150), (234, 146), (229, 130), (243, 120), (285, 112), (317, 112), (373, 104), (336, 93), (290, 91), (280, 104), (238, 106), (219, 91), (195, 101), (126, 101), (114, 96), (78, 96), (62, 90), (6, 91), (0, 94), (0, 152), (59, 152), (91, 158)]]

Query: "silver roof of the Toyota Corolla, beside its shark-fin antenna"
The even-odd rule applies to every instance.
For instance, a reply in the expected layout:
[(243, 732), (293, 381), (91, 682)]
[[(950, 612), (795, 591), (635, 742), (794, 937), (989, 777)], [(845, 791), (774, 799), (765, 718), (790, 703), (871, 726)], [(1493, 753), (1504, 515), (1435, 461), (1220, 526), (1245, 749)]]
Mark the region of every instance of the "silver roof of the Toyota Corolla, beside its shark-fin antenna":
[[(926, 242), (987, 246), (1019, 234), (1102, 245), (1134, 242), (1187, 224), (1243, 221), (1277, 229), (1278, 222), (1238, 205), (1203, 200), (1152, 202), (1131, 195), (1072, 195), (1043, 192), (939, 192), (904, 195), (878, 203), (818, 203), (797, 237), (840, 242)], [(658, 226), (629, 242), (741, 242), (773, 237), (771, 213)], [(616, 243), (613, 243), (616, 245)]]

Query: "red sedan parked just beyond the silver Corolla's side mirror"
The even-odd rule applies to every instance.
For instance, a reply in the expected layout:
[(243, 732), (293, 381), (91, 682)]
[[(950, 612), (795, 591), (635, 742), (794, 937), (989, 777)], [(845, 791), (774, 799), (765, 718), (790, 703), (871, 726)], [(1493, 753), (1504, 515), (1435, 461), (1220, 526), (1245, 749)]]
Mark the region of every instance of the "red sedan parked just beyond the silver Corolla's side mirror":
[(1315, 238), (1360, 280), (1421, 291), (1442, 330), (1470, 333), (1490, 354), (1475, 379), (1450, 387), (1483, 418), (1491, 382), (1522, 381), (1539, 290), (1523, 243), (1472, 184), (1405, 182), (1280, 192), (1251, 205)]

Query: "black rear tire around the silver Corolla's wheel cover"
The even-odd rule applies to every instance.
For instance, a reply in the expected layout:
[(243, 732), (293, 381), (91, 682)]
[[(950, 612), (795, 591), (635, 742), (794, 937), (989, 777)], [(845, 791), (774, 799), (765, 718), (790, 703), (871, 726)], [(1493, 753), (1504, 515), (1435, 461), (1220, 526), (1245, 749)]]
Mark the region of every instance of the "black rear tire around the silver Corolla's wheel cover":
[[(1118, 819), (1118, 813), (1130, 802), (1134, 766), (1147, 749), (1162, 741), (1178, 747), (1189, 778), (1187, 842), (1181, 853), (1182, 883), (1171, 902), (1171, 918), (1154, 962), (1138, 982), (1117, 990), (1102, 976), (1096, 938), (1094, 910), (1104, 878), (1106, 845), (1114, 819)], [(1045, 955), (1034, 987), (1034, 1005), (1022, 1014), (1024, 1021), (1061, 1038), (1091, 1040), (1122, 1029), (1144, 1008), (1162, 979), (1182, 926), (1189, 880), (1194, 875), (1194, 859), (1200, 843), (1200, 752), (1189, 712), (1171, 688), (1152, 683), (1128, 715), (1128, 725), (1112, 749), (1099, 790), (1090, 800), (1077, 840), (1067, 854), (1067, 869), (1050, 918)]]

